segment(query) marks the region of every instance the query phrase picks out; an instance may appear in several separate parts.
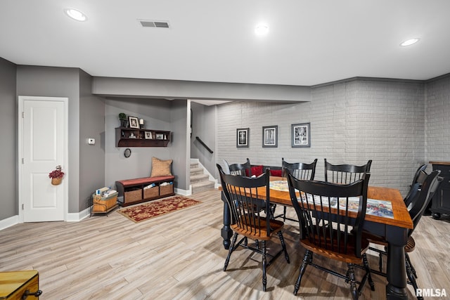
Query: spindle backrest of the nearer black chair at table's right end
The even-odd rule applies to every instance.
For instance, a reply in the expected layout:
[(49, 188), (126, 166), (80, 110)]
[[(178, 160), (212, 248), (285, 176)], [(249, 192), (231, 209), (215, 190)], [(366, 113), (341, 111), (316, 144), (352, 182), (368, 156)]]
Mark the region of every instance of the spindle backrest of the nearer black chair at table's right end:
[[(432, 195), (442, 182), (443, 178), (439, 176), (440, 173), (441, 171), (439, 170), (432, 171), (432, 173), (425, 178), (425, 181), (423, 181), (422, 188), (420, 188), (418, 196), (414, 197), (411, 202), (409, 216), (411, 216), (411, 219), (413, 220), (414, 229), (420, 221), (420, 218), (422, 218), (425, 209), (428, 207), (428, 203), (430, 203)], [(408, 235), (411, 235), (414, 229), (410, 229)]]

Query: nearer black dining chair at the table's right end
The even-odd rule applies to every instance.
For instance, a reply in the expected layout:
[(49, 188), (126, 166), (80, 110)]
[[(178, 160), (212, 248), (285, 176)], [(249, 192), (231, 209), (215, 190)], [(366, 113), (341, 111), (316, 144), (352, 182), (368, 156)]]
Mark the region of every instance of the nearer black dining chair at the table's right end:
[[(408, 242), (404, 248), (406, 275), (409, 279), (408, 283), (413, 286), (415, 291), (418, 289), (416, 281), (417, 274), (416, 270), (413, 267), (413, 264), (411, 263), (411, 259), (409, 258), (408, 253), (413, 252), (416, 247), (416, 241), (411, 235), (414, 232), (414, 229), (416, 229), (416, 226), (422, 218), (425, 209), (428, 207), (428, 203), (430, 202), (433, 194), (442, 181), (442, 177), (439, 176), (439, 170), (432, 171), (430, 175), (425, 175), (425, 177), (423, 176), (423, 174), (426, 174), (425, 171), (420, 171), (420, 173), (421, 174), (419, 174), (416, 180), (418, 181), (418, 183), (421, 183), (421, 187), (418, 190), (417, 188), (415, 188), (416, 190), (410, 193), (412, 196), (411, 199), (409, 199), (409, 215), (411, 216), (411, 220), (413, 221), (413, 228), (408, 230)], [(424, 178), (423, 181), (421, 181), (420, 178)], [(414, 188), (414, 186), (416, 185), (412, 185), (411, 188)], [(372, 270), (372, 272), (386, 277), (386, 273), (383, 272), (383, 261), (381, 260), (381, 257), (382, 255), (387, 255), (387, 242), (382, 237), (367, 235), (366, 233), (363, 233), (363, 235), (369, 240), (369, 242), (384, 246), (384, 250), (374, 247), (370, 247), (370, 249), (380, 254), (380, 271)], [(417, 298), (423, 299), (422, 296), (418, 296)]]

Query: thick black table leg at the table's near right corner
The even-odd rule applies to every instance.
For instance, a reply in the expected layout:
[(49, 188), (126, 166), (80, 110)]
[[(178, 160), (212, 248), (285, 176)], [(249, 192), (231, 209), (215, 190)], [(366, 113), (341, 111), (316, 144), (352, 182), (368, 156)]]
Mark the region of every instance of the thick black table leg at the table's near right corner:
[(408, 240), (406, 228), (387, 228), (386, 299), (408, 299), (404, 247)]

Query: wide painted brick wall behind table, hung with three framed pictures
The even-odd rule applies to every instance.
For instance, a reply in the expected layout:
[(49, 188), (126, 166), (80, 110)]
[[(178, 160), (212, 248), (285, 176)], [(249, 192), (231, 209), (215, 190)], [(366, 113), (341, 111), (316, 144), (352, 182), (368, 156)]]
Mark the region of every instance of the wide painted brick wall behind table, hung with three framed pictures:
[[(308, 103), (227, 103), (217, 111), (217, 162), (281, 166), (318, 158), (333, 164), (373, 159), (371, 185), (406, 195), (425, 161), (425, 84), (353, 80), (312, 88)], [(448, 98), (447, 98), (448, 100)], [(447, 110), (448, 112), (448, 110)], [(291, 147), (291, 124), (311, 123), (311, 148)], [(278, 148), (262, 148), (262, 126), (278, 125)], [(236, 148), (236, 129), (250, 128), (250, 147)]]

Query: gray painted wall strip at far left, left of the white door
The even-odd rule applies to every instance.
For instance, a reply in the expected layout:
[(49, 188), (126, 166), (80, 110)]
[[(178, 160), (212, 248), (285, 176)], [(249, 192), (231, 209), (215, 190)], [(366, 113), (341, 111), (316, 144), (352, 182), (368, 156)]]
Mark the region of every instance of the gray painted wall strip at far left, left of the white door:
[(15, 64), (0, 58), (0, 220), (18, 215), (18, 110), (15, 97)]

